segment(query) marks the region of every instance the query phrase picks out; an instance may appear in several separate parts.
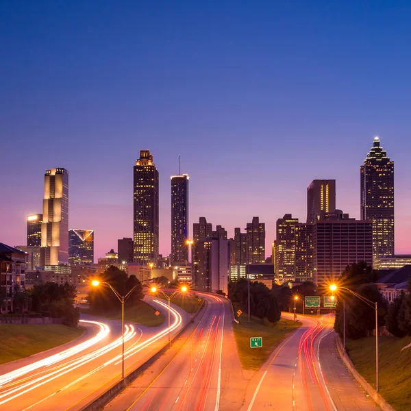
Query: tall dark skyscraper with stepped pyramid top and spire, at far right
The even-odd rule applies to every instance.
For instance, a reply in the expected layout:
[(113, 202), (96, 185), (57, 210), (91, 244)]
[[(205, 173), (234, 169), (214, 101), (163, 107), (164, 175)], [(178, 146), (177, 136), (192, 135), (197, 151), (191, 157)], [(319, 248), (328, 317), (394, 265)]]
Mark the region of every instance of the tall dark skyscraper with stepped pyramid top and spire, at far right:
[(361, 219), (373, 223), (373, 260), (394, 254), (394, 162), (374, 138), (360, 166)]

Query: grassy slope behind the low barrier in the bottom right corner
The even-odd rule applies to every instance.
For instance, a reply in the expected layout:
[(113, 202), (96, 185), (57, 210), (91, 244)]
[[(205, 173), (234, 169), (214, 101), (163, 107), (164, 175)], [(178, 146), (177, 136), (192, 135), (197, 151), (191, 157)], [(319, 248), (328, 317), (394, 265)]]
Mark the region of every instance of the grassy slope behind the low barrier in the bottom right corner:
[[(379, 393), (396, 411), (411, 410), (411, 337), (379, 337)], [(347, 351), (357, 371), (375, 388), (375, 338), (347, 340)]]

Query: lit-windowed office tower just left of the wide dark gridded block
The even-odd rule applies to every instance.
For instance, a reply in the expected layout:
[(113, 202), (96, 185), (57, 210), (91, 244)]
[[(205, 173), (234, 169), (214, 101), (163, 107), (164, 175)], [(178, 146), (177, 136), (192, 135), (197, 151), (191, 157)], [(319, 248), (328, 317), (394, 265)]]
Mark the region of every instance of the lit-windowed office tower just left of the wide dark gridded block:
[(298, 219), (284, 214), (276, 223), (275, 276), (279, 282), (295, 280), (296, 226)]

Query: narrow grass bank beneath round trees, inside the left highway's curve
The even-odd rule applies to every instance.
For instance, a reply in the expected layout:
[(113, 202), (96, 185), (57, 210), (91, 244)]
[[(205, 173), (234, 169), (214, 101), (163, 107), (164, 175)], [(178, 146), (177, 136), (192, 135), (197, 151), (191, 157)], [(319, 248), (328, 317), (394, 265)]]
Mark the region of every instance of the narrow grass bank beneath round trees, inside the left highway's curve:
[[(130, 323), (138, 323), (145, 325), (146, 327), (158, 327), (164, 323), (164, 315), (155, 315), (155, 308), (151, 307), (144, 301), (138, 301), (132, 307), (124, 308), (124, 321)], [(105, 319), (111, 320), (121, 320), (121, 307), (119, 306), (116, 310), (110, 310), (105, 312), (92, 312), (88, 308), (83, 308), (81, 310), (84, 314), (93, 314), (97, 316), (104, 317)]]

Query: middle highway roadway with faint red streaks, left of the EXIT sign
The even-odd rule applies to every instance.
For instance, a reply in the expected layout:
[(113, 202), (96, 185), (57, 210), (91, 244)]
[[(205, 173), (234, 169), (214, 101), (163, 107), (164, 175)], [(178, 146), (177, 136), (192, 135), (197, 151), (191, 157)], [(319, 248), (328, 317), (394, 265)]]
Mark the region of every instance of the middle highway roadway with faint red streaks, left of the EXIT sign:
[(105, 410), (192, 411), (240, 407), (246, 381), (242, 378), (232, 335), (231, 304), (219, 296), (201, 297), (208, 301), (208, 306), (187, 338), (176, 343), (170, 358), (153, 364)]

